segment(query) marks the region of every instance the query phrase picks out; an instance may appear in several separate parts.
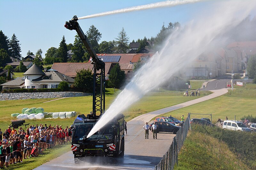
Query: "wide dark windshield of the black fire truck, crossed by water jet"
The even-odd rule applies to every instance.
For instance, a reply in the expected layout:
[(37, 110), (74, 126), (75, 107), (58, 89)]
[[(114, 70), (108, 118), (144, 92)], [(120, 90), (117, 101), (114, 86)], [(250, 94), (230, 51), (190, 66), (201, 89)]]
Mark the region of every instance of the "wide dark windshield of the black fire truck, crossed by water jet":
[(108, 123), (106, 126), (102, 127), (95, 134), (86, 138), (89, 132), (92, 130), (92, 127), (95, 125), (95, 122), (78, 122), (74, 124), (74, 138), (73, 140), (83, 141), (86, 140), (111, 140), (113, 137), (113, 123)]

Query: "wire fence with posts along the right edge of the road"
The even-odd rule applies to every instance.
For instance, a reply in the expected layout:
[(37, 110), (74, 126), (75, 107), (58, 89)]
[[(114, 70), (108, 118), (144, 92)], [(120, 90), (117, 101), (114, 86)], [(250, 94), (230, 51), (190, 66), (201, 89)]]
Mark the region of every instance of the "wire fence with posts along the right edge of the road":
[(155, 170), (172, 170), (174, 165), (178, 165), (178, 154), (184, 141), (188, 135), (188, 129), (190, 127), (190, 114), (177, 132), (176, 136), (172, 140), (172, 144), (169, 150), (164, 154), (162, 160), (156, 165)]

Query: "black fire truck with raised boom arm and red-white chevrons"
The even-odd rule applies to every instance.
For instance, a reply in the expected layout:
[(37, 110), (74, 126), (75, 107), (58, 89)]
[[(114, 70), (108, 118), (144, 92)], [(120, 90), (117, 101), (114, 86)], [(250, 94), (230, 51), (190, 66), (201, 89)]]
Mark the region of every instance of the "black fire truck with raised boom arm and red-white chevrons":
[(69, 30), (76, 30), (91, 56), (93, 64), (92, 113), (78, 115), (68, 131), (72, 136), (71, 150), (75, 163), (86, 156), (124, 156), (124, 115), (113, 117), (104, 127), (87, 138), (87, 135), (105, 112), (105, 63), (98, 58), (92, 45), (74, 16), (64, 25)]

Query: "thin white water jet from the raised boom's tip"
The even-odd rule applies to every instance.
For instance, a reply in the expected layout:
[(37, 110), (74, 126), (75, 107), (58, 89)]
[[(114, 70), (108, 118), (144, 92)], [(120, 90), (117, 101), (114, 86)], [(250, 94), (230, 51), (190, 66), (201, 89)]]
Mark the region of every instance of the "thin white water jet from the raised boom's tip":
[(163, 1), (163, 2), (153, 3), (153, 4), (147, 4), (147, 5), (134, 6), (134, 7), (130, 7), (130, 8), (124, 8), (124, 9), (120, 9), (120, 10), (101, 12), (101, 13), (97, 13), (97, 14), (87, 15), (87, 16), (84, 16), (84, 17), (78, 17), (77, 19), (80, 20), (80, 19), (101, 17), (101, 16), (105, 16), (105, 15), (112, 15), (112, 14), (118, 14), (118, 13), (141, 11), (141, 10), (147, 10), (147, 9), (153, 9), (153, 8), (164, 8), (164, 7), (172, 7), (172, 6), (183, 5), (183, 4), (193, 4), (193, 3), (196, 3), (196, 2), (200, 2), (200, 1), (204, 1), (204, 0)]

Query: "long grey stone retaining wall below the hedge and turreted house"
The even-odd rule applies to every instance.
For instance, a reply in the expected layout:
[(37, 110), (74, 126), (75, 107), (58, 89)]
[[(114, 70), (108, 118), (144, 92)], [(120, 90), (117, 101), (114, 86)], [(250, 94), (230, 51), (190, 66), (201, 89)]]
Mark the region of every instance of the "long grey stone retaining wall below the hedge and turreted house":
[(24, 100), (24, 99), (43, 99), (59, 97), (80, 97), (90, 96), (90, 93), (83, 92), (34, 92), (34, 93), (0, 93), (0, 100)]

